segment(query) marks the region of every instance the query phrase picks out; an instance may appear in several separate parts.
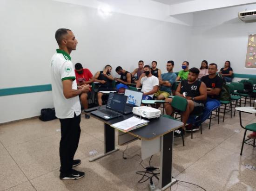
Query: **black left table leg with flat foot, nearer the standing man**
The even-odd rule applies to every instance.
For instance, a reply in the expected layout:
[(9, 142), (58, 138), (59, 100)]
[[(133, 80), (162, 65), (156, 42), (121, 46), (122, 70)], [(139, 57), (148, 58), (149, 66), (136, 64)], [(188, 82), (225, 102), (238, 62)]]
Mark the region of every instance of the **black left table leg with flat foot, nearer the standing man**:
[(118, 150), (119, 149), (115, 149), (115, 128), (110, 127), (110, 125), (104, 123), (104, 153), (89, 159), (89, 161), (92, 162), (94, 160), (100, 159)]

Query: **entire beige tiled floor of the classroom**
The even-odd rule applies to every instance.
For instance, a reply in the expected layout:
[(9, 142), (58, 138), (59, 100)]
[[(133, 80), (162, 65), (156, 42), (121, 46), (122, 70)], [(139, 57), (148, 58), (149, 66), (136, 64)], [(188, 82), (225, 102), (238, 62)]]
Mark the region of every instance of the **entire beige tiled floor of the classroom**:
[[(243, 114), (244, 123), (256, 122), (255, 115)], [(178, 180), (202, 186), (207, 191), (256, 191), (256, 148), (245, 145), (240, 156), (244, 130), (238, 115), (224, 123), (209, 121), (203, 124), (202, 135), (194, 139), (186, 134), (185, 146), (175, 138), (173, 176)], [(75, 158), (81, 159), (78, 170), (85, 171), (85, 178), (61, 181), (59, 179), (60, 122), (42, 122), (30, 119), (0, 125), (0, 191), (148, 191), (149, 181), (138, 184), (143, 170), (141, 159), (122, 159), (127, 146), (105, 158), (89, 162), (89, 152), (103, 152), (103, 123), (90, 118), (81, 119), (81, 138)], [(140, 140), (129, 144), (126, 156), (141, 154)], [(148, 165), (149, 159), (142, 162)], [(152, 157), (153, 166), (160, 166), (160, 155)], [(154, 179), (157, 185), (157, 180)], [(169, 190), (169, 188), (168, 188)], [(202, 189), (178, 182), (172, 191), (200, 191)]]

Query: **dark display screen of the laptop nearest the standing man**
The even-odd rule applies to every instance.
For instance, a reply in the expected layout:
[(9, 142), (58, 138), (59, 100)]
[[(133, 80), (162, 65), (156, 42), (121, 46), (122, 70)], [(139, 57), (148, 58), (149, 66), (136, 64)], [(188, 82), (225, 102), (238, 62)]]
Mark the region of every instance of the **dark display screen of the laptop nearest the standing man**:
[(109, 93), (106, 108), (123, 113), (126, 105), (127, 96), (121, 94)]

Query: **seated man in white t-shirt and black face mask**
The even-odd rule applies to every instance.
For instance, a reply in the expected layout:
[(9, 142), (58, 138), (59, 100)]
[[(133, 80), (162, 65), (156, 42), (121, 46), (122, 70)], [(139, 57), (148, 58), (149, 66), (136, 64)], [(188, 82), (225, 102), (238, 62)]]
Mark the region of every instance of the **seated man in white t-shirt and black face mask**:
[(143, 92), (142, 100), (152, 100), (155, 92), (158, 89), (159, 80), (157, 77), (151, 74), (151, 69), (149, 65), (145, 65), (144, 73), (141, 74), (139, 80), (136, 83), (136, 88), (141, 88)]

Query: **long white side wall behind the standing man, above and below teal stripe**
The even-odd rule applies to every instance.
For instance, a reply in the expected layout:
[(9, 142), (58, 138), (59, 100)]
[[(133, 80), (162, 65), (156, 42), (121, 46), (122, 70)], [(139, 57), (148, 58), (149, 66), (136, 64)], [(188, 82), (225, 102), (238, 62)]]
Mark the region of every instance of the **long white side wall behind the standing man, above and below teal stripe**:
[[(73, 63), (80, 62), (93, 73), (105, 64), (131, 71), (141, 59), (145, 64), (156, 60), (165, 71), (168, 60), (180, 64), (189, 59), (191, 28), (185, 25), (121, 13), (102, 18), (95, 8), (52, 0), (1, 0), (0, 18), (0, 89), (51, 83), (54, 33), (62, 27), (78, 39)], [(1, 96), (0, 105), (2, 123), (39, 115), (53, 102), (51, 92), (40, 92)]]

